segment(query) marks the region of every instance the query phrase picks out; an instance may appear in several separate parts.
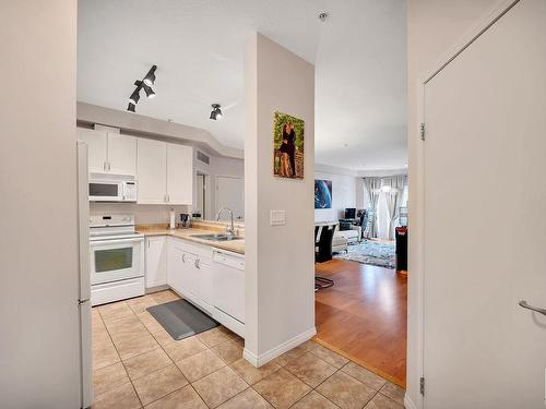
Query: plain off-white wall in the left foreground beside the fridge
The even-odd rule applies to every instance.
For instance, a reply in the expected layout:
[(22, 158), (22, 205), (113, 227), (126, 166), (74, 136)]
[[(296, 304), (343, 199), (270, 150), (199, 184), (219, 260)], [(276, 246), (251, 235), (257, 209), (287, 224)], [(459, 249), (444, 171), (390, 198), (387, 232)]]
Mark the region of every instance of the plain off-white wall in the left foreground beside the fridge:
[(76, 408), (76, 1), (0, 15), (0, 407)]

